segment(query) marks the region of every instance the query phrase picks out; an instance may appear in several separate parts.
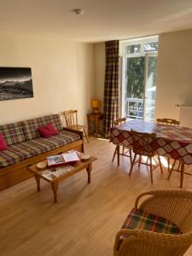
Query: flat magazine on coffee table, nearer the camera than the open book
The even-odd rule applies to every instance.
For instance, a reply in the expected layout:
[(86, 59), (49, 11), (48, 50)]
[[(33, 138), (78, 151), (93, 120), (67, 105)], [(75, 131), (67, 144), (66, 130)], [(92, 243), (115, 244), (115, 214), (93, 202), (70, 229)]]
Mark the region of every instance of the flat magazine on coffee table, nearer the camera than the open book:
[(74, 169), (73, 166), (62, 166), (62, 167), (58, 167), (58, 168), (51, 168), (51, 169), (47, 169), (44, 170), (43, 172), (41, 172), (42, 176), (48, 178), (49, 180), (54, 179), (55, 177), (60, 177), (61, 175), (70, 172)]

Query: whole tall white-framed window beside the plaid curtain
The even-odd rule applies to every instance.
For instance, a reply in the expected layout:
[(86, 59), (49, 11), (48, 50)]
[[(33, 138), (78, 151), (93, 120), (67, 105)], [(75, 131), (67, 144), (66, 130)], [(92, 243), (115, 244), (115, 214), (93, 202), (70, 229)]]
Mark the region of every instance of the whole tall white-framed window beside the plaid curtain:
[(122, 115), (154, 119), (158, 37), (120, 43)]

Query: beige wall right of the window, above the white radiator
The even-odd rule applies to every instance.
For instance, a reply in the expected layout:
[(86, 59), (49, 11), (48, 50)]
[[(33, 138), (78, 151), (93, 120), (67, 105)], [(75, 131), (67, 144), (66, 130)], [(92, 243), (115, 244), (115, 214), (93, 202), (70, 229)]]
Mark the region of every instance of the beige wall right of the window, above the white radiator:
[(176, 104), (192, 105), (192, 30), (160, 36), (155, 117), (178, 119)]

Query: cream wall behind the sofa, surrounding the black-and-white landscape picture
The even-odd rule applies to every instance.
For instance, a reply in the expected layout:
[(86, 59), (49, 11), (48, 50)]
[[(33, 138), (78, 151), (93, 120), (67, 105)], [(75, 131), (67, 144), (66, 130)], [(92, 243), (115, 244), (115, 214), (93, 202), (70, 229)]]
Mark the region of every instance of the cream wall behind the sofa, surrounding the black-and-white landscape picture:
[(0, 102), (0, 125), (77, 108), (85, 123), (95, 90), (94, 45), (0, 34), (0, 67), (32, 67), (34, 98)]

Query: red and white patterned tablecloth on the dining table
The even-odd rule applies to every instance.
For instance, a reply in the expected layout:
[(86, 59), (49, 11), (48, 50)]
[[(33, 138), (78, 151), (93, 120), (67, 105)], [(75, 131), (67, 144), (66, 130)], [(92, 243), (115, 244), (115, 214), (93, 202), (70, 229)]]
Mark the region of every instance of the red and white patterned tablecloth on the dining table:
[(154, 149), (158, 154), (192, 164), (192, 129), (179, 126), (160, 125), (143, 120), (131, 120), (110, 129), (110, 142), (132, 149), (130, 131), (155, 132)]

